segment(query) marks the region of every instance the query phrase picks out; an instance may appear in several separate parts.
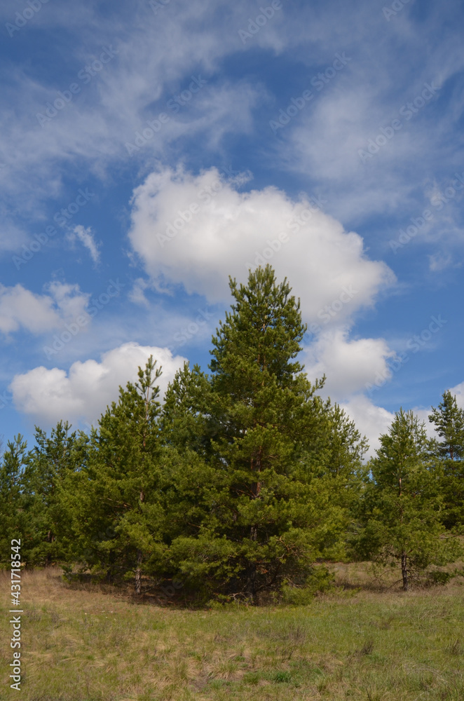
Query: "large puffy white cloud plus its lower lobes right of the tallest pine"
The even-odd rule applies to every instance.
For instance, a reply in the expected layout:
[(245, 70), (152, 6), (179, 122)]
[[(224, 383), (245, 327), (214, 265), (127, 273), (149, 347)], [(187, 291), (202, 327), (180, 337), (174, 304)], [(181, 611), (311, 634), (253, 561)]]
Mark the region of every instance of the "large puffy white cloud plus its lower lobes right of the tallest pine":
[[(226, 180), (215, 168), (151, 173), (132, 198), (133, 250), (152, 284), (184, 285), (211, 304), (230, 299), (229, 274), (245, 281), (250, 267), (269, 261), (301, 298), (313, 334), (304, 358), (309, 376), (325, 373), (325, 392), (350, 401), (377, 374), (389, 374), (387, 360), (395, 354), (386, 341), (350, 339), (350, 328), (395, 275), (369, 260), (362, 238), (322, 212), (323, 202), (304, 194), (295, 201), (275, 187), (240, 192), (240, 185), (240, 174)], [(354, 406), (358, 414), (363, 409), (363, 430), (373, 441), (390, 414), (366, 397)]]

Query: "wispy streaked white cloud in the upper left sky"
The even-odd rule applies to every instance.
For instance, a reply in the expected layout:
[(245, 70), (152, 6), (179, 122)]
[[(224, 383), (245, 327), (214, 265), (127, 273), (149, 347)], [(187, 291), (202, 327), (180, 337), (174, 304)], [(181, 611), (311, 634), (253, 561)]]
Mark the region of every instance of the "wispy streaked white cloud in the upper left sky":
[[(37, 77), (27, 62), (6, 66), (5, 102), (10, 107), (4, 110), (0, 153), (8, 167), (0, 168), (0, 182), (9, 202), (20, 200), (22, 212), (43, 213), (44, 201), (61, 197), (70, 162), (86, 162), (102, 178), (110, 164), (133, 165), (125, 143), (133, 142), (135, 132), (162, 111), (169, 122), (146, 142), (144, 161), (153, 153), (170, 154), (172, 142), (182, 137), (201, 134), (203, 147), (214, 147), (222, 136), (252, 128), (252, 108), (263, 88), (246, 80), (212, 79), (224, 55), (245, 50), (231, 29), (247, 17), (244, 0), (233, 5), (221, 1), (214, 9), (208, 0), (177, 0), (175, 7), (157, 15), (139, 0), (127, 8), (120, 4), (104, 18), (93, 2), (54, 13), (49, 9), (44, 7), (33, 22), (51, 32), (65, 27), (68, 79), (57, 83), (55, 76), (50, 83)], [(6, 17), (11, 16), (15, 11), (8, 10)], [(114, 55), (87, 83), (79, 73), (100, 56), (103, 46), (111, 47)], [(207, 80), (206, 86), (176, 113), (167, 104), (189, 88), (193, 71)], [(36, 115), (44, 114), (47, 102), (57, 99), (57, 90), (67, 90), (72, 82), (79, 85), (79, 94), (41, 127)]]

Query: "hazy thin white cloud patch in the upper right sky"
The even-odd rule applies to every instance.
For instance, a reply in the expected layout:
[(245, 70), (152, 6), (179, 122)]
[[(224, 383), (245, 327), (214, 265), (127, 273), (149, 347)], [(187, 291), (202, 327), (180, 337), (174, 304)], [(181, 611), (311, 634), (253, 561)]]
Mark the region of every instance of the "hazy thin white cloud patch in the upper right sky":
[[(459, 151), (449, 141), (449, 134), (456, 129), (458, 114), (462, 114), (462, 97), (456, 94), (448, 101), (447, 96), (441, 95), (444, 90), (439, 90), (412, 116), (409, 113), (405, 117), (400, 109), (421, 95), (424, 83), (441, 85), (456, 76), (462, 71), (464, 59), (458, 34), (450, 35), (446, 50), (437, 40), (428, 43), (425, 53), (421, 50), (423, 32), (430, 31), (434, 24), (449, 21), (450, 15), (445, 19), (439, 8), (424, 18), (427, 29), (409, 15), (411, 6), (404, 8), (394, 22), (385, 22), (383, 14), (369, 4), (358, 9), (361, 14), (356, 13), (355, 22), (348, 6), (346, 11), (337, 8), (340, 14), (335, 23), (329, 20), (329, 6), (327, 13), (317, 13), (315, 17), (308, 4), (311, 20), (307, 22), (301, 19), (303, 9), (297, 15), (292, 13), (294, 27), (289, 42), (299, 44), (292, 49), (292, 55), (308, 64), (304, 87), (313, 90), (313, 100), (278, 131), (275, 148), (268, 149), (268, 163), (272, 167), (278, 161), (281, 169), (299, 172), (305, 179), (318, 182), (330, 198), (330, 211), (343, 222), (365, 222), (371, 214), (394, 213), (404, 217), (408, 225), (409, 217), (418, 216), (426, 206), (417, 196), (423, 184), (417, 173), (418, 161), (423, 164), (424, 175), (440, 172), (440, 177), (451, 177), (460, 168)], [(341, 34), (334, 31), (341, 26), (343, 46)], [(320, 91), (311, 86), (311, 76), (317, 72), (313, 72), (314, 53), (308, 50), (310, 36), (319, 43), (315, 53), (320, 57), (322, 70), (330, 64), (331, 51), (343, 49), (351, 59)], [(435, 36), (438, 39), (439, 34)], [(398, 53), (400, 37), (402, 51)], [(406, 55), (407, 72), (401, 70)], [(293, 97), (301, 92), (295, 92)], [(437, 110), (437, 104), (443, 100), (446, 109)], [(274, 114), (281, 108), (285, 110), (288, 104), (289, 100), (277, 104)], [(401, 127), (392, 135), (390, 125), (395, 118), (400, 118)], [(385, 128), (387, 143), (362, 163), (358, 151), (367, 151), (369, 139), (376, 139)], [(371, 149), (376, 149), (376, 145)], [(383, 223), (385, 220), (376, 227), (376, 238), (385, 231)]]

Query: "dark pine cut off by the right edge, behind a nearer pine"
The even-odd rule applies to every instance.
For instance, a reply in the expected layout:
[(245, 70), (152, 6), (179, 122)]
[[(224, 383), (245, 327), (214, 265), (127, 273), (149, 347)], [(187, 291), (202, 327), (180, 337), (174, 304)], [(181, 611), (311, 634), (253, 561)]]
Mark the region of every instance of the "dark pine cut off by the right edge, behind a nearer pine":
[(442, 485), (443, 522), (454, 529), (464, 526), (464, 410), (447, 390), (428, 418), (441, 439), (432, 440), (430, 447)]

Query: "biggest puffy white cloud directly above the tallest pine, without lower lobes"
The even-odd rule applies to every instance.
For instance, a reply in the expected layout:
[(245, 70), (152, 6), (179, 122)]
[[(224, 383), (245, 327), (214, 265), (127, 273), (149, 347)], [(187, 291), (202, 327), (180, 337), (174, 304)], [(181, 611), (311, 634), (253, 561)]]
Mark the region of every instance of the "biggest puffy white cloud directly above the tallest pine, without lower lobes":
[(291, 280), (308, 322), (332, 312), (341, 322), (371, 306), (395, 276), (318, 204), (275, 187), (240, 192), (216, 168), (196, 176), (166, 168), (135, 189), (129, 236), (154, 280), (217, 302), (229, 297), (229, 274), (245, 280), (250, 266), (269, 261)]

